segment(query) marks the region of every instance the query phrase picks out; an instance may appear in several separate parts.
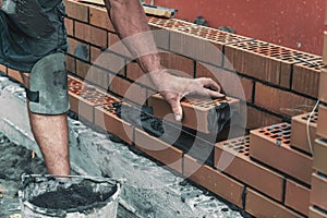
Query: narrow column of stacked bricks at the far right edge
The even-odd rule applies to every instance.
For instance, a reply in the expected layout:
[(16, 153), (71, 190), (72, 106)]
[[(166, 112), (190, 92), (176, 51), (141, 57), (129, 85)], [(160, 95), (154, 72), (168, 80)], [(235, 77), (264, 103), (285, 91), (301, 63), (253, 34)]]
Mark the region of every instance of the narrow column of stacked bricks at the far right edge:
[[(327, 26), (327, 9), (325, 25)], [(312, 192), (311, 192), (311, 218), (326, 218), (327, 217), (327, 32), (324, 33), (324, 50), (323, 64), (318, 99), (320, 105), (318, 108), (318, 123), (314, 143), (314, 161), (312, 174)]]

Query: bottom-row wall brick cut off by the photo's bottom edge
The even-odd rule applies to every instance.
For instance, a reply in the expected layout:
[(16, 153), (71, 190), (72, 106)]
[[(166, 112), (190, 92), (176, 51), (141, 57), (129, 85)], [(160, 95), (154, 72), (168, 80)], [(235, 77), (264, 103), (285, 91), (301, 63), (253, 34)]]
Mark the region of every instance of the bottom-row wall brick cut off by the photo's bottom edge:
[(259, 218), (293, 218), (293, 217), (304, 217), (296, 214), (281, 204), (278, 204), (262, 194), (247, 189), (245, 210)]

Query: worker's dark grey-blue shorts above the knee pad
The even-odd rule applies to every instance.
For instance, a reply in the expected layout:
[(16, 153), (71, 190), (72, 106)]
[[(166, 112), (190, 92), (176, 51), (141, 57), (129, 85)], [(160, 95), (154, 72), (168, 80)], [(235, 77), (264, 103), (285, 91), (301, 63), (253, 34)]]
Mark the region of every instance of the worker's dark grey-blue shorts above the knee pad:
[(21, 72), (47, 55), (68, 48), (61, 0), (2, 0), (0, 63)]

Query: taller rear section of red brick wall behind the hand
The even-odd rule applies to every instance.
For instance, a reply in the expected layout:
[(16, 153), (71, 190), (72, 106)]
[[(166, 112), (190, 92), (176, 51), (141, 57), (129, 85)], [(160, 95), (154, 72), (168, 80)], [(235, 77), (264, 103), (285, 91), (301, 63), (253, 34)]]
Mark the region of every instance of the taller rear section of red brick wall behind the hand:
[[(112, 53), (107, 55), (113, 60), (110, 63), (114, 62), (113, 66), (100, 64), (105, 69), (95, 68), (98, 56), (118, 41), (106, 9), (66, 1), (66, 12), (70, 73), (83, 78), (94, 64), (92, 71), (96, 70), (96, 73), (88, 73), (88, 80), (109, 92), (124, 95), (131, 83), (143, 75), (125, 49), (111, 50)], [(320, 57), (173, 19), (149, 17), (149, 25), (152, 29), (162, 29), (155, 34), (155, 39), (167, 68), (183, 71), (192, 77), (217, 76), (218, 80), (217, 71), (237, 71), (249, 106), (247, 129), (290, 121), (292, 116), (310, 111), (317, 98)], [(196, 52), (187, 49), (193, 40), (204, 41), (204, 48), (208, 43), (214, 45), (226, 58), (203, 60), (206, 50), (202, 50), (202, 46), (194, 48)], [(117, 50), (121, 52), (117, 53)], [(117, 69), (116, 64), (123, 68)], [(109, 86), (113, 77), (116, 82)], [(137, 81), (136, 86), (147, 96), (144, 84)]]

